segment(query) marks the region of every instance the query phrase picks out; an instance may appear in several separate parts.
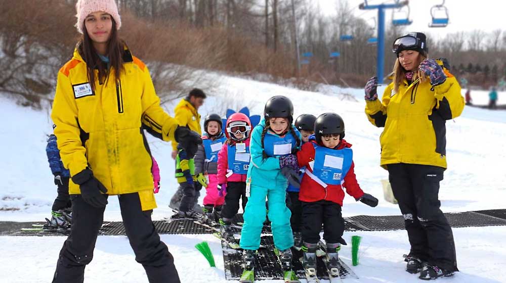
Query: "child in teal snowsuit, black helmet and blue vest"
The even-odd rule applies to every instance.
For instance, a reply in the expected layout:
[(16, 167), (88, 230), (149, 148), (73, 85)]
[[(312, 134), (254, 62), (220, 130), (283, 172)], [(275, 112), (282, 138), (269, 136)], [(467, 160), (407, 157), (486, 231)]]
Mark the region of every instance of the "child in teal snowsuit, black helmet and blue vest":
[[(275, 96), (267, 102), (264, 119), (251, 133), (251, 162), (247, 173), (248, 203), (244, 212), (244, 225), (240, 246), (245, 250), (243, 259), (253, 262), (252, 256), (260, 247), (260, 236), (266, 217), (265, 199), (269, 204), (274, 246), (283, 256), (293, 246), (290, 227), (290, 210), (286, 207), (287, 179), (281, 173), (283, 167), (297, 167), (293, 156), (301, 147), (301, 134), (292, 125), (293, 105), (283, 96)], [(246, 187), (246, 194), (248, 188)]]

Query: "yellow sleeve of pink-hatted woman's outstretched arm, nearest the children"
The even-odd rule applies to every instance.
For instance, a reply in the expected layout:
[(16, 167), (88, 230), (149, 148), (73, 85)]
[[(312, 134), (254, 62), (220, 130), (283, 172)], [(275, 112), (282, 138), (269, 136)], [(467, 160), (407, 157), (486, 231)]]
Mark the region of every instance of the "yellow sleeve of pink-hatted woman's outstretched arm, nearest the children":
[(160, 98), (156, 95), (153, 81), (147, 67), (143, 73), (144, 89), (141, 98), (142, 123), (161, 135), (165, 141), (173, 141), (178, 126), (176, 119), (169, 116), (160, 106)]

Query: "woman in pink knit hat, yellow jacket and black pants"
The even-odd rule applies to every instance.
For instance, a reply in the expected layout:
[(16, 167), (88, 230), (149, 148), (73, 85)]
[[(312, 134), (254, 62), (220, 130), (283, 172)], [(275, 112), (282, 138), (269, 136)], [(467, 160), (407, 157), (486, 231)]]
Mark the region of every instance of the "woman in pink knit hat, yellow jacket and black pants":
[(115, 1), (78, 0), (76, 10), (82, 37), (58, 72), (51, 113), (72, 201), (71, 233), (53, 282), (83, 281), (107, 199), (118, 195), (126, 235), (149, 282), (178, 283), (174, 258), (151, 221), (156, 203), (143, 129), (183, 148), (196, 148), (200, 135), (160, 107), (148, 68), (118, 38)]

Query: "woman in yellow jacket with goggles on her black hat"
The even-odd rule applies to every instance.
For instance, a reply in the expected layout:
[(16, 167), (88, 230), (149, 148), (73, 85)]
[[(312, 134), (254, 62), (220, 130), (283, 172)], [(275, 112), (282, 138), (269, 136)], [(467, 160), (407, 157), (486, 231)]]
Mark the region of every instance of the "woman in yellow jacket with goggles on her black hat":
[(365, 113), (377, 127), (381, 166), (404, 216), (411, 250), (406, 271), (420, 279), (453, 275), (457, 269), (451, 227), (441, 212), (439, 182), (446, 169), (446, 120), (464, 107), (460, 86), (447, 62), (428, 59), (425, 34), (413, 32), (394, 41), (393, 82), (377, 99), (377, 78), (365, 86)]

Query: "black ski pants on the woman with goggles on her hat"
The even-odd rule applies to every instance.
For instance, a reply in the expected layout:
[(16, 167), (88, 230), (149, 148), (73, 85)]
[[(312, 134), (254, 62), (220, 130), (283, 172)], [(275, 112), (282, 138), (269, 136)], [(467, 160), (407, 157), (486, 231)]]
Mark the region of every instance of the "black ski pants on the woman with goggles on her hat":
[(450, 224), (440, 209), (439, 182), (444, 168), (421, 164), (388, 164), (392, 191), (404, 216), (410, 256), (448, 271), (457, 271)]

